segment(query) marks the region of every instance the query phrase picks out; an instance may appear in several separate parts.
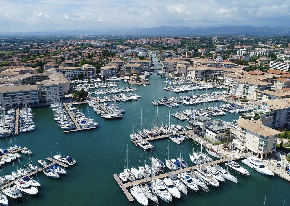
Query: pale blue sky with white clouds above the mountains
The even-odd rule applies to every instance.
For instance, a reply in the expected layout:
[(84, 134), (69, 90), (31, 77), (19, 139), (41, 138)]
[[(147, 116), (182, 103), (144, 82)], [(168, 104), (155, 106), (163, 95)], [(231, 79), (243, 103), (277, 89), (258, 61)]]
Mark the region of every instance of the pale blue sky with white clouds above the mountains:
[(289, 7), (290, 0), (0, 0), (0, 32), (201, 25), (288, 27)]

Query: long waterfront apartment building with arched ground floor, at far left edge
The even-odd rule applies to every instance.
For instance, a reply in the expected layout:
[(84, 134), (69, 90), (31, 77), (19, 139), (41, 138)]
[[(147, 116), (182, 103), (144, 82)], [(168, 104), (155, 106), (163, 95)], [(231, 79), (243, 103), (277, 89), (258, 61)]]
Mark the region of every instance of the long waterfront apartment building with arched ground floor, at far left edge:
[(0, 101), (5, 107), (21, 107), (26, 104), (39, 104), (35, 85), (0, 83)]

